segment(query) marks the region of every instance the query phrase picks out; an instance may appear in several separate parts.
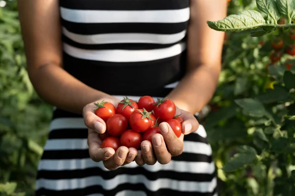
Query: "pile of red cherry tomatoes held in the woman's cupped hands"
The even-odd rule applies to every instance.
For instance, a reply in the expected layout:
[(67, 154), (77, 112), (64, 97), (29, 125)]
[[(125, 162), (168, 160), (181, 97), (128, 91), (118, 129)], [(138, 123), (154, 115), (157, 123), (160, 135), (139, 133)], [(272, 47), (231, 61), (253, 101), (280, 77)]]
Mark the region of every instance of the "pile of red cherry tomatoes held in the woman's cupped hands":
[(125, 97), (117, 108), (108, 101), (94, 103), (94, 113), (106, 122), (106, 132), (99, 134), (101, 147), (120, 146), (140, 149), (141, 142), (156, 133), (161, 134), (159, 123), (166, 122), (179, 138), (182, 132), (180, 116), (176, 116), (176, 106), (169, 98), (143, 96), (138, 101)]

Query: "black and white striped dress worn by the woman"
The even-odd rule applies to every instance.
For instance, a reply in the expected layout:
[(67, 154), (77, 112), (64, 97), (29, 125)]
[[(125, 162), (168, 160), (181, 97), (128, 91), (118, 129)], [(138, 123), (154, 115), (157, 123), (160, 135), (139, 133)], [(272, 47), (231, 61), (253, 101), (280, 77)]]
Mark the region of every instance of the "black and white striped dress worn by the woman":
[[(162, 98), (183, 77), (190, 0), (60, 0), (63, 68), (122, 99)], [(89, 157), (81, 115), (56, 108), (39, 162), (36, 196), (217, 196), (204, 127), (167, 165), (115, 171)]]

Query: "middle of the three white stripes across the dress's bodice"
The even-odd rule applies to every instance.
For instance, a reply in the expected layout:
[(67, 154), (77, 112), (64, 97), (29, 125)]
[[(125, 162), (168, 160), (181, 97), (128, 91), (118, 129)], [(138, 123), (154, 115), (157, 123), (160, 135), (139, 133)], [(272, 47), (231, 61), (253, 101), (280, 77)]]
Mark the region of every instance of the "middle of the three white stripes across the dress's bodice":
[(146, 43), (146, 44), (173, 44), (182, 40), (186, 30), (175, 34), (151, 33), (107, 33), (97, 35), (81, 35), (62, 28), (65, 36), (81, 44), (120, 44), (120, 43)]

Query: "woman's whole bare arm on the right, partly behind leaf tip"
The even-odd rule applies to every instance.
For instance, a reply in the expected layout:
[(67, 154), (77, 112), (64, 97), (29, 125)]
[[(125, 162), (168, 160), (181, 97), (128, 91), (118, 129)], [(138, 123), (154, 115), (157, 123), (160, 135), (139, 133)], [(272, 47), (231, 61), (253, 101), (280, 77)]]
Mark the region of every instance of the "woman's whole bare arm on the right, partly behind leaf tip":
[(191, 0), (187, 74), (168, 95), (180, 109), (199, 112), (214, 94), (224, 32), (210, 29), (206, 22), (223, 19), (226, 10), (227, 0)]

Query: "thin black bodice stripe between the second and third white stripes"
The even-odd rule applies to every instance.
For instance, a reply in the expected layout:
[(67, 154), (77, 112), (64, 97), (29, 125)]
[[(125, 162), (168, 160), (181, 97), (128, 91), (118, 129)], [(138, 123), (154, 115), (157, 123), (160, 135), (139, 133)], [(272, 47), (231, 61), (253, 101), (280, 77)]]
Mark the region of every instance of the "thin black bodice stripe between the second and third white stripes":
[[(185, 39), (185, 38), (184, 38)], [(128, 49), (128, 50), (141, 50), (141, 49), (165, 49), (172, 47), (178, 43), (184, 42), (184, 39), (173, 44), (145, 44), (145, 43), (123, 43), (123, 44), (80, 44), (66, 37), (62, 36), (62, 41), (73, 47), (79, 49)]]

